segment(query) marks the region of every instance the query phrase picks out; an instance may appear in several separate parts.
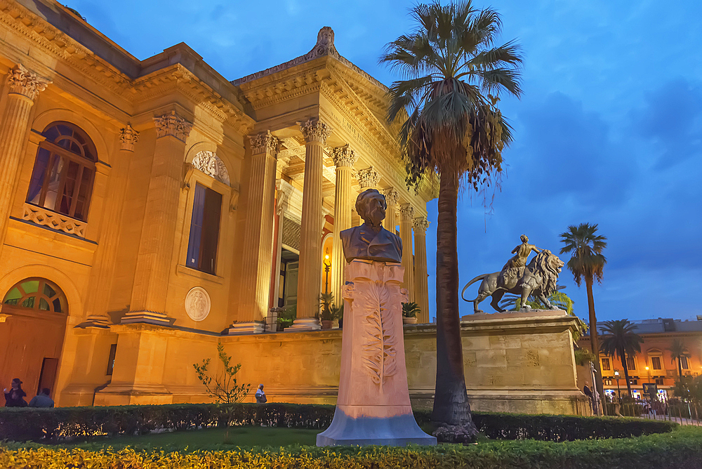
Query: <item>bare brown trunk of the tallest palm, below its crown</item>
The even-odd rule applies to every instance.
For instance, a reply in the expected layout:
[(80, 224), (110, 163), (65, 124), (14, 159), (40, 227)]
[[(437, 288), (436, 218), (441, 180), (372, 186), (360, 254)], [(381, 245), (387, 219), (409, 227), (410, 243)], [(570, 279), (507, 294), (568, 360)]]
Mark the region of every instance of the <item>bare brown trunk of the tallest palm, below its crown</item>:
[[(457, 204), (458, 177), (444, 173), (439, 182), (437, 220), (437, 381), (432, 422), (439, 428), (460, 434), (456, 435), (458, 440), (454, 442), (472, 441), (477, 435), (470, 417), (463, 375), (463, 344), (458, 317)], [(451, 440), (450, 435), (447, 436)]]

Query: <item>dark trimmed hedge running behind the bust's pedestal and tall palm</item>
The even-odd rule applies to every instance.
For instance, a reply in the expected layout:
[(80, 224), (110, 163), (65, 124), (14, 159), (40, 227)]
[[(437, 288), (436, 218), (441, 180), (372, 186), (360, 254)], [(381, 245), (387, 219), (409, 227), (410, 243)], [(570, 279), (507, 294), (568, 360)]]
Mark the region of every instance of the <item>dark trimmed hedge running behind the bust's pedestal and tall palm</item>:
[[(169, 404), (56, 409), (0, 408), (0, 440), (63, 442), (153, 431), (226, 425), (324, 429), (334, 406), (305, 404)], [(430, 425), (430, 411), (416, 411)], [(474, 412), (478, 430), (494, 440), (564, 442), (670, 432), (677, 423), (638, 418)]]

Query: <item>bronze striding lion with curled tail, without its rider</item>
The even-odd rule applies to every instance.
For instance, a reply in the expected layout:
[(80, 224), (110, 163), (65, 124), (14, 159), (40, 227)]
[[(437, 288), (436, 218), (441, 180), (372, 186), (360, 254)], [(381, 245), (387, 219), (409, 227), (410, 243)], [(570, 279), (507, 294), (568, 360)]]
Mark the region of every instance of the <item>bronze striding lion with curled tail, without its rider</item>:
[[(482, 312), (478, 309), (478, 305), (488, 296), (492, 296), (490, 304), (497, 312), (505, 312), (498, 304), (505, 293), (521, 295), (522, 305), (527, 304), (529, 295), (534, 295), (541, 300), (541, 303), (553, 310), (556, 308), (551, 305), (548, 296), (556, 289), (558, 275), (561, 273), (563, 265), (563, 261), (560, 260), (558, 256), (551, 253), (548, 249), (543, 249), (541, 253), (538, 253), (538, 255), (531, 260), (527, 267), (478, 275), (475, 279), (468, 282), (468, 284), (465, 284), (463, 291), (461, 291), (461, 298), (473, 303), (475, 313)], [(466, 300), (463, 293), (478, 280), (482, 280), (482, 283), (478, 289), (477, 297), (475, 297), (475, 300)], [(530, 309), (529, 305), (527, 305), (527, 309)]]

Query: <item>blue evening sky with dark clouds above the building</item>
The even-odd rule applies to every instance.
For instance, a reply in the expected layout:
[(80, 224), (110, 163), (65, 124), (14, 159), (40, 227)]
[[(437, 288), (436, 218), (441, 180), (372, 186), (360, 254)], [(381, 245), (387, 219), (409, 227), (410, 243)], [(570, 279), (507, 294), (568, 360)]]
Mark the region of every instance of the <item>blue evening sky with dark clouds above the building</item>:
[[(385, 84), (383, 46), (413, 24), (405, 1), (67, 0), (137, 58), (181, 41), (227, 79), (303, 55), (323, 26), (336, 48)], [(702, 4), (660, 1), (476, 1), (503, 17), (524, 52), (524, 95), (506, 98), (515, 127), (506, 174), (486, 214), (465, 192), (458, 208), (461, 286), (499, 270), (526, 233), (557, 252), (568, 225), (609, 238), (600, 320), (702, 315)], [(427, 244), (435, 310), (436, 201)], [(567, 255), (562, 258), (567, 260)], [(559, 279), (588, 315), (585, 286)], [(473, 286), (468, 296), (475, 296)], [(489, 299), (482, 309), (491, 310)], [(461, 314), (472, 304), (461, 301)]]

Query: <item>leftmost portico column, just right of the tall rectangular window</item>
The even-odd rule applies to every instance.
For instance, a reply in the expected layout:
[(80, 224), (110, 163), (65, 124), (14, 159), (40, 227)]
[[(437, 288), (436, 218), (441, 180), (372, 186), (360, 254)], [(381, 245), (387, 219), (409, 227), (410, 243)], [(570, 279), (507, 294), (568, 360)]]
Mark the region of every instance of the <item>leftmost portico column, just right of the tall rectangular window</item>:
[(280, 140), (270, 131), (249, 136), (251, 171), (246, 206), (244, 256), (241, 258), (241, 294), (237, 323), (230, 333), (263, 332), (270, 300), (273, 249), (273, 210), (276, 157)]

